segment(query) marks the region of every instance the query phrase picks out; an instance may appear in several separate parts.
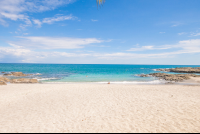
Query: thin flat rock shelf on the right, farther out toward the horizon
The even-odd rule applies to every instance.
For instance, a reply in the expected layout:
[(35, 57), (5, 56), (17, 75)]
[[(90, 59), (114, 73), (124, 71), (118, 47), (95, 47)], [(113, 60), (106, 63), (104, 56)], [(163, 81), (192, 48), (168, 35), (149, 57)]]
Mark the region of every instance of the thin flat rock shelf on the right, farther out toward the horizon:
[(156, 71), (176, 72), (176, 73), (200, 73), (200, 67), (180, 67), (171, 69), (156, 69)]

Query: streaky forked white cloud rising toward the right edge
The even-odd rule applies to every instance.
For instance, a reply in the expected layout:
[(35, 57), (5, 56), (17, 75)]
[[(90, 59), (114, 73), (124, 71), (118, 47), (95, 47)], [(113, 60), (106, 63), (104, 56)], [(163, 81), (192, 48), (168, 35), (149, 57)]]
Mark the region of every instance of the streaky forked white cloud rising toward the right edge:
[[(142, 50), (154, 50), (154, 49), (168, 49), (168, 48), (176, 48), (178, 50), (171, 52), (163, 52), (163, 53), (151, 53), (151, 54), (137, 54), (137, 53), (112, 53), (112, 54), (97, 54), (96, 56), (99, 58), (162, 58), (168, 57), (178, 54), (192, 54), (192, 53), (200, 53), (200, 39), (192, 39), (192, 40), (183, 40), (179, 41), (178, 44), (175, 45), (163, 45), (158, 48), (153, 46), (143, 46), (141, 48), (132, 48), (134, 51), (142, 51)], [(172, 49), (174, 50), (174, 49)]]

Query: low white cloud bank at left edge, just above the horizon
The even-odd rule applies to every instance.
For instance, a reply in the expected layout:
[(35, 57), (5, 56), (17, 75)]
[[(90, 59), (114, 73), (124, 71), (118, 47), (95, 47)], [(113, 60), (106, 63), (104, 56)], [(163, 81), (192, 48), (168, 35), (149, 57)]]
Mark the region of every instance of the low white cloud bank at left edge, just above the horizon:
[[(25, 63), (45, 63), (47, 60), (50, 63), (57, 63), (58, 60), (64, 61), (66, 58), (80, 58), (90, 56), (85, 53), (67, 53), (67, 52), (37, 52), (30, 49), (22, 49), (13, 45), (13, 47), (0, 47), (0, 61), (12, 59), (14, 62)], [(52, 61), (54, 59), (54, 61)], [(8, 61), (9, 62), (9, 61)]]

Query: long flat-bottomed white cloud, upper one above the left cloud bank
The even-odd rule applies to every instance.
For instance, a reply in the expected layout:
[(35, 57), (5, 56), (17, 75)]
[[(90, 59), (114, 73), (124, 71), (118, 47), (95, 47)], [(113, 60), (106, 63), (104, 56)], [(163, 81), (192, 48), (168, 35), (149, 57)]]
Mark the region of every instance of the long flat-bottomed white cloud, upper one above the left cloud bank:
[(9, 42), (23, 48), (39, 49), (77, 49), (92, 43), (102, 43), (104, 40), (96, 38), (67, 38), (67, 37), (18, 37), (20, 40)]

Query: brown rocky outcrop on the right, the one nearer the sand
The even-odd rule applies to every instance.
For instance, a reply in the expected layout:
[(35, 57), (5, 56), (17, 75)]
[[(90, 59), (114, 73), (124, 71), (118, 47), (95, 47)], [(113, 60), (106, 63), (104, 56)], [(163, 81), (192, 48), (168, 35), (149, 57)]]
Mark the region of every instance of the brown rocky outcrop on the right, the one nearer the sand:
[(149, 74), (150, 76), (153, 77), (158, 77), (160, 79), (164, 79), (166, 81), (175, 81), (175, 82), (180, 82), (183, 80), (188, 80), (190, 77), (200, 77), (200, 75), (195, 75), (195, 74), (166, 74), (166, 73), (152, 73)]

